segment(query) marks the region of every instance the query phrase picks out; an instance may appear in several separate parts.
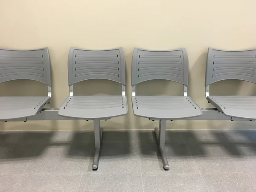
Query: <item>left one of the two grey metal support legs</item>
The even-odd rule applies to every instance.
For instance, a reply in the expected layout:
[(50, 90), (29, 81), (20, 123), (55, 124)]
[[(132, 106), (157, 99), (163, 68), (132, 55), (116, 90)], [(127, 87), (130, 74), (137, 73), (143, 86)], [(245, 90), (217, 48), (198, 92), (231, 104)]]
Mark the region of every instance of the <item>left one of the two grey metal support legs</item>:
[(100, 127), (100, 120), (99, 119), (93, 119), (93, 125), (94, 125), (94, 142), (95, 142), (95, 153), (94, 153), (94, 158), (93, 158), (93, 170), (97, 170), (98, 165), (99, 165), (99, 153), (101, 151), (101, 145), (102, 145), (103, 129)]

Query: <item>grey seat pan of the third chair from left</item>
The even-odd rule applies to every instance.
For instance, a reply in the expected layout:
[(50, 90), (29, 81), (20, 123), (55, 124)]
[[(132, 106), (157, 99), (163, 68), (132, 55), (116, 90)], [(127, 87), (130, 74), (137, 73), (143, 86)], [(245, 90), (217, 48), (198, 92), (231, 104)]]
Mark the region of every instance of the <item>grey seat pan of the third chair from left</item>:
[(186, 119), (202, 114), (198, 105), (184, 96), (132, 96), (134, 115), (153, 119)]

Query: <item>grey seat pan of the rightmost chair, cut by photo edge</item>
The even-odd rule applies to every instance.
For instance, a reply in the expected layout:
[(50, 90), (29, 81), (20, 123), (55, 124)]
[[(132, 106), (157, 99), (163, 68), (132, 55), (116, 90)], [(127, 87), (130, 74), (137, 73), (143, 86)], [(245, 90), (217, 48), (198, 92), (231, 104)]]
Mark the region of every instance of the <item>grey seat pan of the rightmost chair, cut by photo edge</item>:
[(256, 96), (208, 96), (207, 100), (226, 116), (256, 119)]

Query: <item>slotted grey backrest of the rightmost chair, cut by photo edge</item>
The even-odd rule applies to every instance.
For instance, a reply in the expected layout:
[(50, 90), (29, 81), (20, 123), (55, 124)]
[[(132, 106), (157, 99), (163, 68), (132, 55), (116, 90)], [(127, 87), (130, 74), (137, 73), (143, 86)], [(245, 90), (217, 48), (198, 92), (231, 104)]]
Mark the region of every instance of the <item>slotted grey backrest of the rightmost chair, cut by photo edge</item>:
[(238, 79), (256, 83), (256, 50), (208, 49), (205, 86), (216, 81)]

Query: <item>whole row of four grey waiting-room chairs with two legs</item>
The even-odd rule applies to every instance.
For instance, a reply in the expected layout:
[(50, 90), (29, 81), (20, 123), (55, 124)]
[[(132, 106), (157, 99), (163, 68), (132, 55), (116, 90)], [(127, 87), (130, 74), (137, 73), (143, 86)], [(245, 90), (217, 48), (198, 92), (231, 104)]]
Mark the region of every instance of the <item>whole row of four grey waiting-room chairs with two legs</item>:
[[(187, 96), (189, 60), (186, 49), (153, 51), (134, 49), (132, 58), (132, 106), (134, 115), (159, 120), (155, 128), (164, 169), (169, 164), (164, 151), (166, 121), (201, 116), (201, 108)], [(29, 79), (47, 84), (48, 96), (0, 97), (0, 120), (27, 118), (39, 113), (51, 98), (51, 70), (47, 48), (0, 49), (0, 83)], [(73, 84), (88, 79), (107, 79), (122, 84), (120, 96), (73, 96)], [(183, 84), (183, 96), (137, 96), (136, 84), (165, 79)], [(209, 85), (239, 79), (256, 83), (256, 50), (227, 51), (209, 48), (206, 69), (206, 98), (218, 111), (233, 118), (255, 120), (256, 97), (209, 96)], [(122, 48), (87, 50), (71, 48), (68, 56), (70, 95), (58, 115), (94, 121), (95, 155), (98, 168), (103, 130), (100, 120), (127, 113), (125, 96), (125, 55)]]

